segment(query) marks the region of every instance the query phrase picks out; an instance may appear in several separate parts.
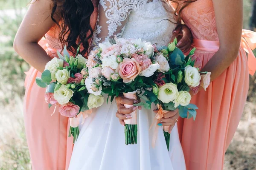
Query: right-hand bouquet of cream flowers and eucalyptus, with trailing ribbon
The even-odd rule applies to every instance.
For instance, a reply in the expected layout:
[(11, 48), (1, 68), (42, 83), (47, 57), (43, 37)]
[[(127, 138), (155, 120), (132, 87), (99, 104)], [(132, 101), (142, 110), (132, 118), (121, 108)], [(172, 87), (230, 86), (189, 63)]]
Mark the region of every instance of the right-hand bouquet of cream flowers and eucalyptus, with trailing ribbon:
[[(185, 57), (183, 52), (176, 47), (176, 44), (177, 39), (156, 51), (155, 58), (160, 65), (160, 70), (152, 76), (154, 85), (151, 89), (146, 89), (143, 94), (147, 98), (147, 102), (153, 102), (157, 105), (158, 113), (154, 122), (156, 125), (160, 123), (165, 112), (174, 111), (177, 108), (180, 117), (193, 117), (195, 120), (196, 109), (198, 108), (196, 105), (190, 104), (191, 95), (189, 92), (197, 94), (200, 86), (206, 90), (210, 83), (211, 73), (199, 71), (201, 61), (194, 55), (195, 48)], [(169, 150), (169, 126), (164, 126), (163, 131)], [(157, 137), (156, 134), (154, 133), (153, 146)]]

